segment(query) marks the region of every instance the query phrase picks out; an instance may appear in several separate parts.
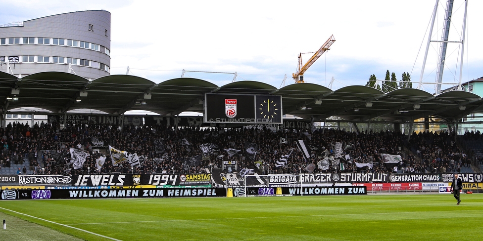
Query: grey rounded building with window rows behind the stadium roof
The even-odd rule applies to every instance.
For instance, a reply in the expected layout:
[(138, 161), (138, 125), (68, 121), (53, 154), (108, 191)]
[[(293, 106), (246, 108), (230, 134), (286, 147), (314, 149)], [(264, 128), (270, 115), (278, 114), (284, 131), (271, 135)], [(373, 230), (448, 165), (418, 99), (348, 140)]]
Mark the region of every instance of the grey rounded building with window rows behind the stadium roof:
[(109, 75), (111, 13), (62, 13), (0, 26), (0, 71), (22, 78), (44, 72), (89, 80)]

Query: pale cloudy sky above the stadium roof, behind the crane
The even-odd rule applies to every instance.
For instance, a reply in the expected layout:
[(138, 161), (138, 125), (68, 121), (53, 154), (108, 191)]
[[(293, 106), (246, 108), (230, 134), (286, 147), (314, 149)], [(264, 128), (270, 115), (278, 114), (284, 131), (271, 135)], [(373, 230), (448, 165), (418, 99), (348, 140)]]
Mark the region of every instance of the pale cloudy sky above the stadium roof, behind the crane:
[[(182, 70), (238, 73), (280, 87), (293, 83), (300, 52), (313, 52), (331, 36), (336, 42), (305, 72), (306, 82), (337, 90), (364, 85), (386, 70), (417, 86), (435, 0), (1, 0), (0, 24), (53, 14), (105, 9), (111, 12), (111, 74), (162, 82)], [(443, 6), (433, 40), (441, 39)], [(459, 41), (464, 1), (454, 0), (450, 40)], [(469, 0), (463, 82), (483, 76), (483, 1)], [(426, 35), (426, 36), (425, 36)], [(459, 44), (448, 44), (444, 82), (459, 80)], [(435, 81), (438, 44), (430, 47), (424, 81)], [(312, 54), (304, 54), (306, 62)], [(414, 66), (414, 67), (413, 67)], [(187, 72), (185, 77), (219, 86), (233, 74)], [(434, 92), (434, 85), (425, 90)]]

